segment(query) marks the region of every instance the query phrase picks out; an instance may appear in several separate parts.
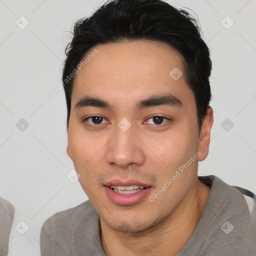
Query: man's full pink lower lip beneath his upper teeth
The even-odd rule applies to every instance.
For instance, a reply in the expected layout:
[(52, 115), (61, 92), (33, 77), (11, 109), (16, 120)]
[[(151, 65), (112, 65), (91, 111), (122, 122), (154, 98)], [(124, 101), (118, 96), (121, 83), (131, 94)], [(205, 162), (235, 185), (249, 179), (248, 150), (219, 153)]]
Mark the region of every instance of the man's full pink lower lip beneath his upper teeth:
[(131, 205), (138, 203), (145, 198), (149, 194), (152, 187), (149, 186), (146, 189), (132, 194), (119, 194), (114, 192), (113, 189), (108, 186), (104, 186), (104, 188), (108, 199), (110, 199), (113, 203), (120, 205)]

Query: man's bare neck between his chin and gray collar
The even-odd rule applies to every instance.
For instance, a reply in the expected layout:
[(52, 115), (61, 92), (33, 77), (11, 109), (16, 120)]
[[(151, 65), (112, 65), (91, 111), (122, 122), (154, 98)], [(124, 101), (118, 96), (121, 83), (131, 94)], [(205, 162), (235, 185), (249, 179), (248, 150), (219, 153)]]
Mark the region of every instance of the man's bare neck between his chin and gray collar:
[(111, 229), (100, 218), (101, 245), (106, 256), (174, 256), (193, 233), (203, 212), (210, 187), (196, 180), (174, 212), (150, 230), (125, 233)]

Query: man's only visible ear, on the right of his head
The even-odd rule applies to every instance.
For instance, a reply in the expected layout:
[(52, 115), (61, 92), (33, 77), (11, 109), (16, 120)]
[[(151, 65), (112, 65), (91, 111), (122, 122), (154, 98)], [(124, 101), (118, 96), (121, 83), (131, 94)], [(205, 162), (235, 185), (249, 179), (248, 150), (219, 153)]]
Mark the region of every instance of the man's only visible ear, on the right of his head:
[(207, 109), (207, 115), (204, 117), (202, 122), (200, 135), (199, 135), (199, 145), (198, 150), (201, 153), (198, 156), (198, 161), (204, 160), (209, 152), (209, 143), (210, 143), (210, 130), (213, 124), (213, 110), (211, 107)]

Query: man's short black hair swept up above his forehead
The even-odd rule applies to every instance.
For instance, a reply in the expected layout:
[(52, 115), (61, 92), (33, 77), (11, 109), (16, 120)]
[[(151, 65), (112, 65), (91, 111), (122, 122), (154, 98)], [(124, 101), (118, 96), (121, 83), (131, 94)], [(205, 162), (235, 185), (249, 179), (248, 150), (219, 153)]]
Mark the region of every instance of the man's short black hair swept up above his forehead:
[[(166, 42), (184, 58), (184, 75), (194, 93), (199, 130), (207, 114), (211, 91), (210, 51), (198, 21), (186, 10), (161, 0), (108, 0), (90, 17), (77, 20), (65, 49), (62, 83), (67, 105), (67, 129), (73, 78), (85, 52), (97, 44), (132, 40)], [(67, 79), (68, 78), (68, 79)]]

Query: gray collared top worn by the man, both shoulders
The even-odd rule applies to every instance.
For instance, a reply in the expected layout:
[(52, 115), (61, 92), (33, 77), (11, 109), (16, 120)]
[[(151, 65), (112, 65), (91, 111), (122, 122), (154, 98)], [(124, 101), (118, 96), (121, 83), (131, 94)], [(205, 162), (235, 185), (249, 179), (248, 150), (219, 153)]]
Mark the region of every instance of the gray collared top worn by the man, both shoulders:
[[(214, 175), (198, 179), (211, 191), (195, 230), (177, 256), (256, 255), (255, 194)], [(48, 218), (40, 245), (41, 256), (105, 256), (99, 216), (90, 201)]]

